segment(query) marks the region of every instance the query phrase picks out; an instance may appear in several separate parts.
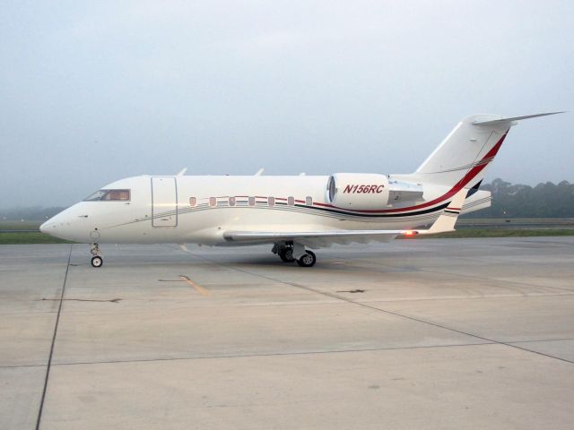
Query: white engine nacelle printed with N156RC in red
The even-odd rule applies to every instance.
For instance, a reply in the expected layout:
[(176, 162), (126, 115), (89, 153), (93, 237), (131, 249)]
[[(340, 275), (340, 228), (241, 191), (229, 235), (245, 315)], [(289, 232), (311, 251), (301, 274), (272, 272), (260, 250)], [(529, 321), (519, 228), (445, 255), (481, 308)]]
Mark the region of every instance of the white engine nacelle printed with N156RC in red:
[(370, 173), (335, 173), (327, 184), (327, 198), (336, 207), (357, 211), (400, 207), (422, 201), (422, 185)]

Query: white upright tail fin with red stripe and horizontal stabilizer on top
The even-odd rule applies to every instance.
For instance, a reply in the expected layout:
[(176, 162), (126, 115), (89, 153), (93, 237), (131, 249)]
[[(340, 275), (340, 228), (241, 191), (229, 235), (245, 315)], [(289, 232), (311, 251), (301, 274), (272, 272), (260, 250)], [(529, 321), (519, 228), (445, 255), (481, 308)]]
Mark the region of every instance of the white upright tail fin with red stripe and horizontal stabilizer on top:
[(467, 116), (448, 134), (413, 174), (422, 183), (471, 188), (483, 180), (488, 164), (500, 150), (512, 125), (518, 120), (561, 112), (502, 118), (493, 115)]

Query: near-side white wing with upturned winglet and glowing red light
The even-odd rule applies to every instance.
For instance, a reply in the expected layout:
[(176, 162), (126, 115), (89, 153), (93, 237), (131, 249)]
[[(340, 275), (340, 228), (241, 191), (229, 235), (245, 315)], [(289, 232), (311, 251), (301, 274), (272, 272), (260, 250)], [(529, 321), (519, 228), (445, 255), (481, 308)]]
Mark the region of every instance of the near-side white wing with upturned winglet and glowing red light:
[(463, 188), (455, 194), (448, 207), (429, 229), (422, 230), (317, 230), (317, 231), (226, 231), (223, 238), (228, 242), (265, 244), (293, 241), (311, 248), (333, 244), (387, 242), (396, 236), (432, 235), (455, 230), (458, 214), (465, 202), (468, 190)]

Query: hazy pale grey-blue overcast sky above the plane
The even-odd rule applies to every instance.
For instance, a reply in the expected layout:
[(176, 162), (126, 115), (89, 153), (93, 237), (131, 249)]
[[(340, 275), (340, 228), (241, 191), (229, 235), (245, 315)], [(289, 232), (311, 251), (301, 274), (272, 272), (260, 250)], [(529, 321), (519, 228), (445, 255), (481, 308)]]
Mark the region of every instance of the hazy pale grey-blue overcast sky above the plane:
[[(574, 2), (4, 2), (0, 207), (126, 176), (410, 173), (458, 120), (574, 110)], [(486, 181), (574, 181), (574, 112)]]

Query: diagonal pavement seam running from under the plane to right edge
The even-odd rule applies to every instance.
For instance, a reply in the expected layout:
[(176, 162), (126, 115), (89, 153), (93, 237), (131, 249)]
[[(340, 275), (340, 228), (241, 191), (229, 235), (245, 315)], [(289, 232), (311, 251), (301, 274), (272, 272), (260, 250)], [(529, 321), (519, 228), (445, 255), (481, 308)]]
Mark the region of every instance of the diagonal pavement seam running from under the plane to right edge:
[[(191, 253), (190, 253), (190, 254), (191, 254)], [(202, 255), (195, 255), (195, 256), (196, 256), (197, 258), (200, 258), (200, 259), (206, 261), (206, 262), (211, 262), (211, 263), (213, 263), (213, 264), (215, 264), (215, 265), (220, 265), (220, 266), (223, 266), (223, 267), (228, 267), (228, 268), (230, 268), (230, 269), (232, 269), (232, 270), (234, 270), (234, 271), (241, 271), (241, 272), (243, 272), (243, 273), (247, 273), (247, 274), (252, 275), (252, 276), (257, 276), (257, 277), (259, 277), (259, 278), (264, 278), (264, 279), (266, 279), (266, 280), (273, 280), (273, 281), (275, 281), (275, 282), (282, 282), (282, 283), (285, 284), (285, 285), (291, 285), (292, 287), (295, 287), (295, 288), (306, 289), (306, 290), (308, 290), (308, 291), (311, 291), (311, 292), (313, 292), (313, 293), (316, 293), (316, 294), (319, 294), (319, 295), (322, 295), (322, 296), (337, 298), (337, 299), (339, 299), (339, 300), (342, 300), (342, 301), (347, 302), (347, 303), (352, 304), (352, 305), (360, 305), (360, 306), (363, 306), (363, 307), (366, 307), (366, 308), (369, 308), (369, 309), (372, 309), (372, 310), (375, 310), (375, 311), (378, 311), (378, 312), (382, 312), (382, 313), (385, 313), (385, 314), (392, 314), (392, 315), (395, 315), (395, 316), (398, 316), (398, 317), (401, 317), (401, 318), (405, 318), (405, 319), (408, 319), (408, 320), (411, 320), (411, 321), (414, 321), (414, 322), (417, 322), (417, 323), (428, 324), (428, 325), (431, 325), (431, 326), (434, 326), (434, 327), (438, 327), (438, 328), (440, 328), (440, 329), (444, 329), (444, 330), (448, 330), (448, 331), (453, 331), (453, 332), (456, 332), (456, 333), (459, 333), (459, 334), (464, 334), (464, 335), (466, 335), (466, 336), (470, 336), (470, 337), (473, 337), (473, 338), (475, 338), (475, 339), (483, 340), (483, 341), (490, 342), (490, 343), (497, 343), (497, 344), (499, 344), (499, 345), (505, 345), (505, 346), (507, 346), (507, 347), (509, 347), (509, 348), (516, 348), (516, 349), (520, 349), (520, 350), (522, 350), (522, 351), (530, 352), (530, 353), (532, 353), (532, 354), (537, 354), (537, 355), (539, 355), (539, 356), (548, 357), (548, 358), (553, 358), (553, 359), (555, 359), (555, 360), (560, 360), (560, 361), (563, 361), (563, 362), (565, 362), (565, 363), (574, 364), (574, 361), (568, 360), (568, 359), (566, 359), (566, 358), (554, 357), (554, 356), (551, 356), (551, 355), (549, 355), (549, 354), (544, 354), (543, 352), (535, 351), (535, 350), (528, 349), (528, 348), (522, 348), (522, 347), (519, 347), (519, 346), (517, 346), (517, 345), (513, 345), (513, 344), (510, 344), (510, 343), (507, 343), (507, 342), (502, 342), (502, 341), (499, 341), (499, 340), (492, 340), (492, 339), (484, 338), (483, 336), (479, 336), (479, 335), (477, 335), (477, 334), (473, 334), (473, 333), (470, 333), (470, 332), (467, 332), (467, 331), (461, 331), (461, 330), (453, 329), (453, 328), (451, 328), (451, 327), (447, 327), (447, 326), (441, 325), (441, 324), (439, 324), (439, 323), (431, 323), (430, 321), (425, 321), (425, 320), (422, 320), (422, 319), (420, 319), (420, 318), (416, 318), (416, 317), (413, 317), (413, 316), (409, 316), (409, 315), (405, 315), (405, 314), (398, 314), (398, 313), (396, 313), (396, 312), (389, 311), (389, 310), (387, 310), (387, 309), (382, 309), (382, 308), (377, 307), (377, 306), (372, 306), (372, 305), (368, 305), (368, 304), (366, 304), (366, 303), (357, 302), (357, 301), (354, 301), (354, 300), (352, 300), (352, 299), (350, 299), (350, 298), (347, 298), (347, 297), (341, 297), (341, 296), (339, 296), (339, 295), (337, 295), (337, 294), (335, 294), (335, 293), (329, 293), (329, 292), (326, 292), (326, 291), (321, 291), (321, 290), (318, 290), (318, 289), (316, 289), (316, 288), (311, 288), (311, 287), (308, 287), (308, 286), (305, 286), (305, 285), (302, 285), (302, 284), (298, 284), (298, 283), (296, 283), (296, 282), (290, 282), (290, 281), (286, 281), (286, 280), (277, 280), (277, 279), (272, 278), (272, 277), (270, 277), (270, 276), (266, 276), (266, 275), (254, 273), (254, 272), (252, 272), (252, 271), (246, 271), (246, 270), (244, 270), (244, 269), (239, 269), (239, 268), (234, 267), (234, 266), (232, 266), (232, 265), (230, 265), (230, 264), (225, 264), (225, 263), (221, 263), (221, 262), (214, 262), (213, 260), (210, 260), (210, 259), (208, 259), (208, 258), (205, 258), (205, 257), (202, 256)], [(459, 275), (459, 276), (460, 276), (460, 275)]]

